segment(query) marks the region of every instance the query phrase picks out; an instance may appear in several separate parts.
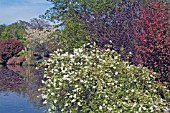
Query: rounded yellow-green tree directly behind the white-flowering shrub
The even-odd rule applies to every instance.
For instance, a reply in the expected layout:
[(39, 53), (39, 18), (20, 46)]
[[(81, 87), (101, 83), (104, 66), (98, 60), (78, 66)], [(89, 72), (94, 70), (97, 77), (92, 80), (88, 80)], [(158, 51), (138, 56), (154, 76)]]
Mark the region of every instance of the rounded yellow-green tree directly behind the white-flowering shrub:
[(89, 40), (89, 32), (86, 24), (76, 21), (74, 17), (65, 22), (64, 30), (61, 32), (60, 41), (64, 50), (72, 51), (73, 48), (81, 47)]

